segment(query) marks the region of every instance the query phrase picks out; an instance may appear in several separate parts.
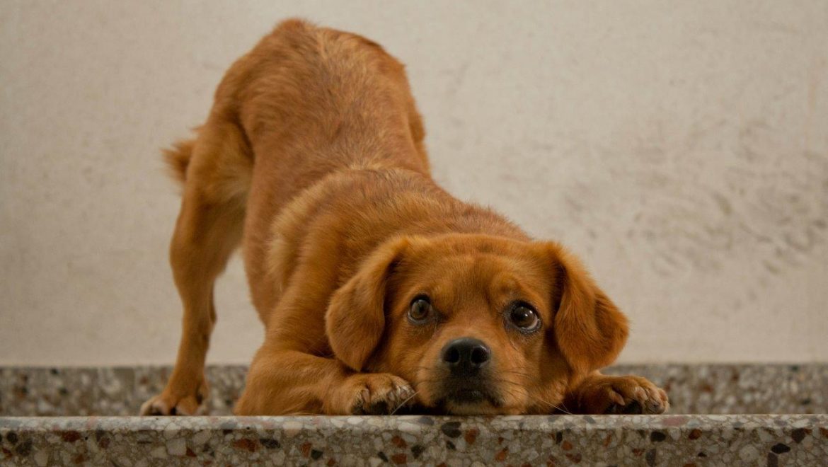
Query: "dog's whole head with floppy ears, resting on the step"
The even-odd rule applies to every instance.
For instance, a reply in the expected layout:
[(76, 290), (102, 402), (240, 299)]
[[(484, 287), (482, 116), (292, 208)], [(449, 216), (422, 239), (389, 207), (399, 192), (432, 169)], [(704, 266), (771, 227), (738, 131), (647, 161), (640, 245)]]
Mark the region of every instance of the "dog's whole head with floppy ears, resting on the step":
[(555, 243), (451, 234), (378, 248), (333, 297), (327, 331), (349, 367), (406, 378), (423, 406), (549, 413), (615, 359), (627, 324)]

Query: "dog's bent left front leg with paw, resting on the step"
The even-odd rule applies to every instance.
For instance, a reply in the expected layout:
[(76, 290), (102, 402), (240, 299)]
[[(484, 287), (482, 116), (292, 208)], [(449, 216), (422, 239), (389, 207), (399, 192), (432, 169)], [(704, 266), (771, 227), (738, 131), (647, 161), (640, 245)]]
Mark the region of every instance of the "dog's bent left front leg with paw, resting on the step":
[[(390, 373), (359, 373), (336, 359), (319, 311), (330, 301), (314, 288), (328, 282), (301, 269), (269, 314), (264, 344), (253, 357), (236, 415), (391, 413), (414, 402), (411, 385)], [(324, 288), (324, 286), (323, 286)]]

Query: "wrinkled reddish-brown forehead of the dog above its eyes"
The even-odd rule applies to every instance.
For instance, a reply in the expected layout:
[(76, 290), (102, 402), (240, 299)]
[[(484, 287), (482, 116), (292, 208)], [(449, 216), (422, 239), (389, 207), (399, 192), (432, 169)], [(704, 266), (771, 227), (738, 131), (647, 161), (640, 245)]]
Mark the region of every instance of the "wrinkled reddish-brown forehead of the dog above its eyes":
[(526, 243), (450, 238), (416, 245), (408, 256), (407, 288), (443, 306), (522, 300), (546, 307), (551, 296), (548, 267)]

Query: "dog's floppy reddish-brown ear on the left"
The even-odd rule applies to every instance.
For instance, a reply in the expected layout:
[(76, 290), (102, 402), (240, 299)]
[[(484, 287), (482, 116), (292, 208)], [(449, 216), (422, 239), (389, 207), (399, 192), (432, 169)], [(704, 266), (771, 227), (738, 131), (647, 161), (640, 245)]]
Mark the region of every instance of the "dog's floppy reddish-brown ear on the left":
[(330, 348), (356, 371), (363, 369), (383, 337), (386, 282), (407, 245), (406, 238), (381, 245), (331, 297), (325, 313)]

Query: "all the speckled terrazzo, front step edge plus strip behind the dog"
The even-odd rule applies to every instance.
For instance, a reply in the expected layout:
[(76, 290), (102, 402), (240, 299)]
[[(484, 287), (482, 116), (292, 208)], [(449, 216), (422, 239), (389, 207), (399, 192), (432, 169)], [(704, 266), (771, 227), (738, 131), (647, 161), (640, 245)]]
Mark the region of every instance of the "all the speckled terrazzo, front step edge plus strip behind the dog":
[[(0, 465), (826, 465), (828, 364), (635, 365), (665, 416), (137, 417), (169, 368), (0, 368)], [(678, 415), (681, 413), (731, 415)], [(779, 415), (744, 415), (777, 413)], [(799, 413), (800, 415), (793, 415)], [(739, 415), (741, 414), (741, 415)], [(37, 416), (39, 415), (39, 416)]]

